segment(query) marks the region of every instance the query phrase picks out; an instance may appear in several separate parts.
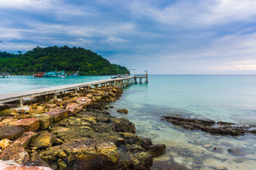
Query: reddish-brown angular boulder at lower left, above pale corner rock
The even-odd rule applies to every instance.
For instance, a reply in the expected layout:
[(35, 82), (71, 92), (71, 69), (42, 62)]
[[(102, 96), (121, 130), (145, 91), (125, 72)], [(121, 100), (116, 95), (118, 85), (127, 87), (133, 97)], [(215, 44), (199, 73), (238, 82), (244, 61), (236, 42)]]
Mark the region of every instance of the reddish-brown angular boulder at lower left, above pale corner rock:
[(20, 143), (13, 143), (1, 153), (0, 159), (14, 160), (18, 164), (26, 164), (29, 155)]

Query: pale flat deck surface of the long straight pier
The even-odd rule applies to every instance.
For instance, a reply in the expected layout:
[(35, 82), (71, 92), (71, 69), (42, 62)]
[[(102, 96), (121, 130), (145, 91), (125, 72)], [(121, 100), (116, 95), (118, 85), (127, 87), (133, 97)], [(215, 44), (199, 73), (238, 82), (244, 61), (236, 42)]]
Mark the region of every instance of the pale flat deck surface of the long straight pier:
[(29, 90), (29, 91), (25, 91), (25, 92), (2, 94), (2, 95), (0, 95), (0, 103), (19, 101), (19, 100), (26, 99), (29, 97), (38, 97), (38, 96), (44, 96), (47, 94), (56, 94), (58, 92), (65, 92), (68, 90), (74, 90), (74, 89), (81, 88), (81, 87), (90, 87), (93, 85), (100, 85), (103, 83), (110, 83), (113, 81), (128, 80), (131, 78), (133, 78), (133, 77), (115, 78), (115, 79), (108, 79), (108, 80), (97, 80), (97, 81), (77, 83), (77, 84), (72, 84), (72, 85), (61, 85), (61, 86), (57, 86), (57, 87), (47, 87), (44, 89), (35, 89), (35, 90)]

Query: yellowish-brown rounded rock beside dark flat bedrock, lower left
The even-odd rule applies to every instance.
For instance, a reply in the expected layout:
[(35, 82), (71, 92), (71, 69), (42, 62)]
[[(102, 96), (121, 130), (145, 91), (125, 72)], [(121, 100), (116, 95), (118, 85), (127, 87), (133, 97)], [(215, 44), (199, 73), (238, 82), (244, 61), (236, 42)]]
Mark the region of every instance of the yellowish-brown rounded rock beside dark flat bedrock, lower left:
[(54, 134), (45, 132), (32, 139), (29, 143), (30, 146), (40, 148), (51, 148), (52, 144), (56, 141), (56, 136)]

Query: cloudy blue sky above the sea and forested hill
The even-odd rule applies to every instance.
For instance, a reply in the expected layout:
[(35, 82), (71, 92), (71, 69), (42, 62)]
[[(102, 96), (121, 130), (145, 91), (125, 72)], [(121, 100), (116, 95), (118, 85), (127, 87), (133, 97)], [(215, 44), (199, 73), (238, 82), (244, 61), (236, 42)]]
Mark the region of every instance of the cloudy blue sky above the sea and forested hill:
[(0, 51), (81, 46), (136, 73), (256, 74), (256, 0), (0, 0)]

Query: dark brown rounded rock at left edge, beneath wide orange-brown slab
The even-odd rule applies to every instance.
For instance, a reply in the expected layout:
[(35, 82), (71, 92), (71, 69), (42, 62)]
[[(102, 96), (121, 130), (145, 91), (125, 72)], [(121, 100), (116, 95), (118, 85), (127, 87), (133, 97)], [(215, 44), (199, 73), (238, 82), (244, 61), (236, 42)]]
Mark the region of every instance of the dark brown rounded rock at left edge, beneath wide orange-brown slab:
[(4, 125), (0, 127), (0, 139), (16, 139), (19, 138), (23, 132), (23, 127), (17, 127), (14, 125)]

